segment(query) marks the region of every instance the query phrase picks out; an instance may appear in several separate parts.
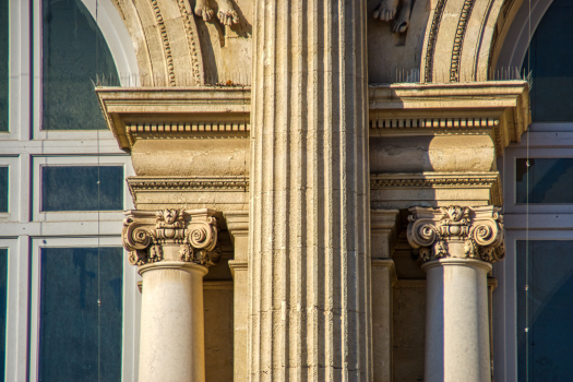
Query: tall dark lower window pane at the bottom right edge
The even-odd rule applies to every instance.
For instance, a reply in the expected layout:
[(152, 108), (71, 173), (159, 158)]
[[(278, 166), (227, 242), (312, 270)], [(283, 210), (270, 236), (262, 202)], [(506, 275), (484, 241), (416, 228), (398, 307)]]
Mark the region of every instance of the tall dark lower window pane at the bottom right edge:
[(517, 241), (520, 382), (570, 381), (573, 375), (572, 248), (573, 241), (529, 241), (526, 256), (526, 242)]

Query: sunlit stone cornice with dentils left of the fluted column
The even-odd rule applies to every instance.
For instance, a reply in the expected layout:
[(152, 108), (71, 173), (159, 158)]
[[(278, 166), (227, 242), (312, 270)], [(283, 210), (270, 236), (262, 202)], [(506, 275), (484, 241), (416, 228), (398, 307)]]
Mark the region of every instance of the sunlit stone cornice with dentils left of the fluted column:
[(249, 136), (249, 87), (97, 87), (96, 94), (123, 150), (139, 139)]

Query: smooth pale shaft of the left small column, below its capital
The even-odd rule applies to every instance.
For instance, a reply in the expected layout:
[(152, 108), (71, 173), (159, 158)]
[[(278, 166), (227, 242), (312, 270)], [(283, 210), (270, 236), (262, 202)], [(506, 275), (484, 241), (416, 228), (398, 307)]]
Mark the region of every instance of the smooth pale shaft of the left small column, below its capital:
[(140, 382), (204, 382), (203, 276), (207, 268), (142, 265)]

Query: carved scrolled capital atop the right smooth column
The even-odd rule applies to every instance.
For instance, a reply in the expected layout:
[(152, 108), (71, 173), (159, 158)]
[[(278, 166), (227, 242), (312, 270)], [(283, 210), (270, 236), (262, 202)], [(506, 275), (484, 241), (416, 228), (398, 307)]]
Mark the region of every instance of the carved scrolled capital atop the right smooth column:
[(408, 242), (422, 261), (444, 258), (500, 261), (505, 255), (503, 217), (499, 207), (413, 207)]

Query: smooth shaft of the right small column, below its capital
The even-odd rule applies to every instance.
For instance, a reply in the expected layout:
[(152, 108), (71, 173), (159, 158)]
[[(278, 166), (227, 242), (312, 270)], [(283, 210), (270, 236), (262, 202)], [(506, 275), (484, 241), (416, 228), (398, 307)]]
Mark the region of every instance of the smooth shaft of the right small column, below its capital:
[(444, 259), (427, 272), (426, 382), (491, 381), (487, 274), (479, 260)]

